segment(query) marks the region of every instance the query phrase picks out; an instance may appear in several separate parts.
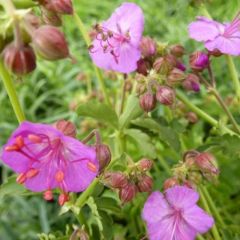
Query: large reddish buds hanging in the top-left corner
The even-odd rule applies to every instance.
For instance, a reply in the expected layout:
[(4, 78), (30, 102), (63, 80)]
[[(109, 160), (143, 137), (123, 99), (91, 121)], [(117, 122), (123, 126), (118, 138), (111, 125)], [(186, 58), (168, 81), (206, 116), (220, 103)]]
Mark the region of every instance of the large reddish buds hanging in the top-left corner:
[[(70, 0), (44, 0), (39, 3), (44, 7), (54, 6), (51, 9), (59, 14), (72, 12)], [(9, 71), (17, 76), (32, 72), (36, 68), (36, 54), (49, 61), (70, 56), (65, 36), (57, 27), (42, 22), (33, 12), (26, 13), (20, 21), (24, 24), (12, 21), (13, 31), (6, 39), (0, 40), (0, 52)]]

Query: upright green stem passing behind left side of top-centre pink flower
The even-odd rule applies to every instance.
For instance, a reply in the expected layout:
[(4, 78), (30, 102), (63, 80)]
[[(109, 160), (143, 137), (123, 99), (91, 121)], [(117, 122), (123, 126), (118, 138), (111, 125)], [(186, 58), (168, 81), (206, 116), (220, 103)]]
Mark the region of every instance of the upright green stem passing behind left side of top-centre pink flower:
[[(91, 39), (88, 36), (88, 33), (85, 29), (85, 26), (84, 26), (81, 18), (78, 16), (78, 14), (76, 12), (74, 13), (74, 18), (75, 18), (77, 27), (78, 27), (79, 31), (81, 32), (86, 45), (89, 46), (91, 44)], [(108, 94), (107, 94), (107, 90), (106, 90), (106, 86), (105, 86), (105, 83), (104, 83), (102, 73), (99, 70), (99, 68), (97, 68), (95, 65), (94, 65), (94, 71), (95, 71), (95, 74), (97, 76), (97, 79), (98, 79), (99, 85), (101, 87), (101, 90), (103, 92), (104, 99), (105, 99), (105, 101), (108, 105), (111, 105), (110, 99), (109, 99)]]

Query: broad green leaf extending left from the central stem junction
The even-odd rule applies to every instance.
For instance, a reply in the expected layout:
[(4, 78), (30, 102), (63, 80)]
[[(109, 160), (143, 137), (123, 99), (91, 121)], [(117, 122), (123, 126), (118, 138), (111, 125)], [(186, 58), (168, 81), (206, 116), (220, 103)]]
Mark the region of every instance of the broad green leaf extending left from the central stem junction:
[(116, 112), (105, 103), (97, 101), (89, 101), (81, 104), (77, 112), (80, 116), (91, 117), (104, 124), (109, 124), (115, 129), (118, 129), (118, 117)]

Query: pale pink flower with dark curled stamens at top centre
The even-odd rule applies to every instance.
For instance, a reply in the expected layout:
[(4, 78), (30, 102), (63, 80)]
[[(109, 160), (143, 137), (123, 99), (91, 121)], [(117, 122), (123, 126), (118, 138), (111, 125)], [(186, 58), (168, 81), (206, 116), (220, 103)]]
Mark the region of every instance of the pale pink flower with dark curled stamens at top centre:
[(89, 51), (93, 62), (105, 70), (135, 71), (141, 57), (143, 27), (141, 8), (134, 3), (123, 3), (107, 21), (97, 25), (97, 35)]

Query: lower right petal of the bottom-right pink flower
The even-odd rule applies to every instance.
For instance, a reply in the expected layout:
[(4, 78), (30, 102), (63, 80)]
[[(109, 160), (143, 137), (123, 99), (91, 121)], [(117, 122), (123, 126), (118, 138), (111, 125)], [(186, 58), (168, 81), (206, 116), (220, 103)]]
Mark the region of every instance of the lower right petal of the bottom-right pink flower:
[(214, 224), (214, 219), (198, 206), (185, 209), (183, 217), (196, 232), (201, 234), (207, 232)]

